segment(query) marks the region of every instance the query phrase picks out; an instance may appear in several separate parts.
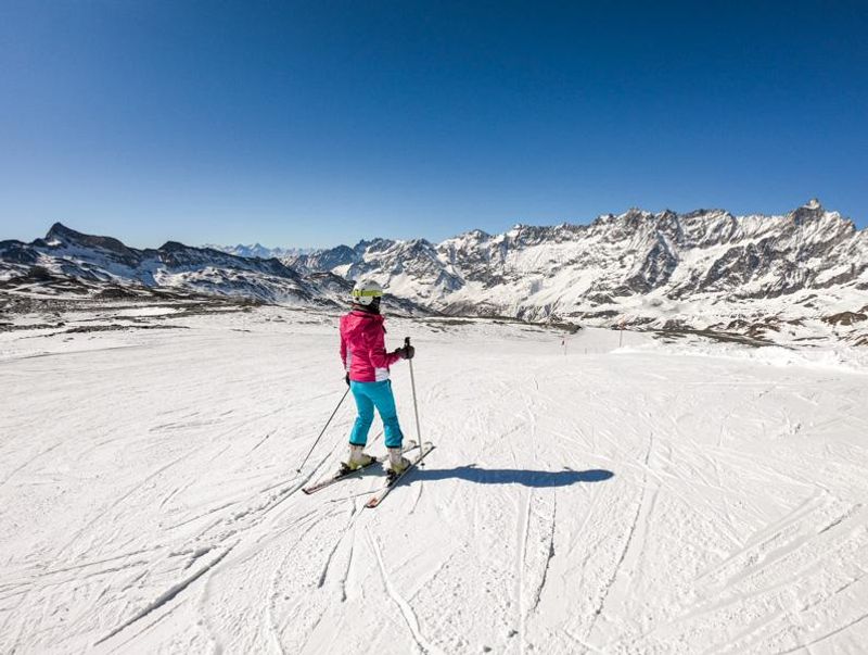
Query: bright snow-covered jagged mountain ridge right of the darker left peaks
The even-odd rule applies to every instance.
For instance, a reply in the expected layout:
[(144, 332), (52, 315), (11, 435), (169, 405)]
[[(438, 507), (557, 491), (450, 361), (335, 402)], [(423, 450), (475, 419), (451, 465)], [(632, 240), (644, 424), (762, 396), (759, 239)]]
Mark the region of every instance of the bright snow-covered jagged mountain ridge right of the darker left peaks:
[(805, 320), (848, 331), (868, 313), (868, 230), (816, 200), (784, 216), (630, 210), (589, 225), (516, 225), (441, 243), (375, 239), (288, 263), (373, 277), (451, 314), (754, 336), (789, 329), (797, 338)]

